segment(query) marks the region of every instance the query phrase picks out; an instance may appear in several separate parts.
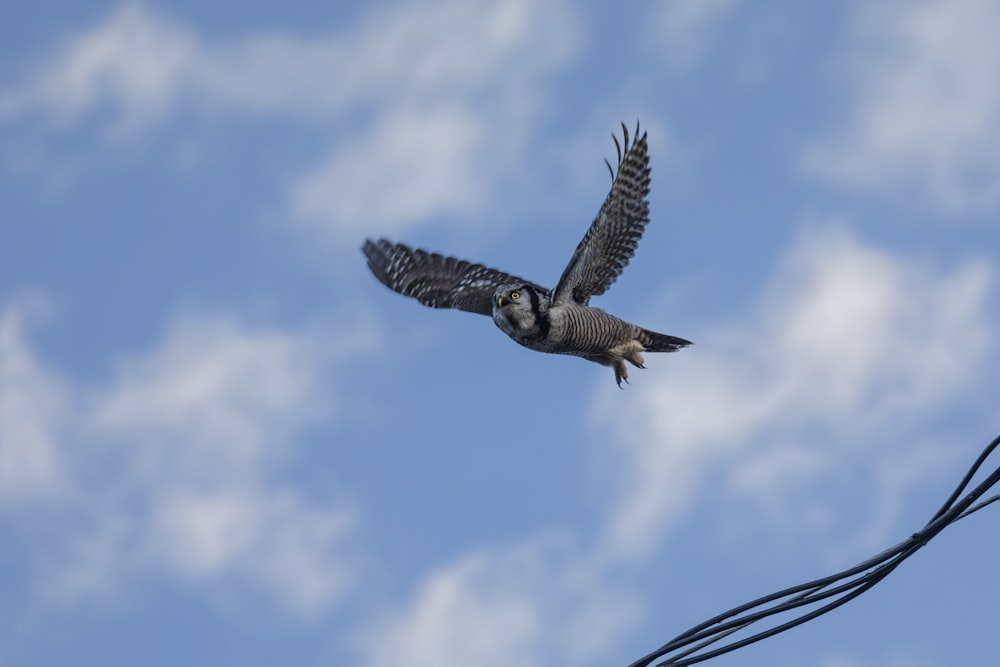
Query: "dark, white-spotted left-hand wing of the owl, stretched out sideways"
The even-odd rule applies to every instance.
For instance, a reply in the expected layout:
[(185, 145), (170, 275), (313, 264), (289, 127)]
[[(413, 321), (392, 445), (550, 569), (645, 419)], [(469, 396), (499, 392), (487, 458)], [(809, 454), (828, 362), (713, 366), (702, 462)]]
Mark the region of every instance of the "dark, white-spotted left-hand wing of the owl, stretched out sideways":
[(482, 264), (415, 250), (387, 239), (367, 239), (361, 249), (368, 258), (368, 268), (386, 287), (431, 308), (491, 315), (497, 287), (529, 282)]

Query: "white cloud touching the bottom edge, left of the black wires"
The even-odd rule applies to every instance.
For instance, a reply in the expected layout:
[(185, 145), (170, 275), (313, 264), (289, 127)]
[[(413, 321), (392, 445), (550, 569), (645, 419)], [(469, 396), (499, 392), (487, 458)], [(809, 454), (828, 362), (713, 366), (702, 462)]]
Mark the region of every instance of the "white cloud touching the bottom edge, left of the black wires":
[(426, 577), (365, 638), (370, 667), (586, 664), (635, 621), (600, 568), (541, 538), (469, 554)]

